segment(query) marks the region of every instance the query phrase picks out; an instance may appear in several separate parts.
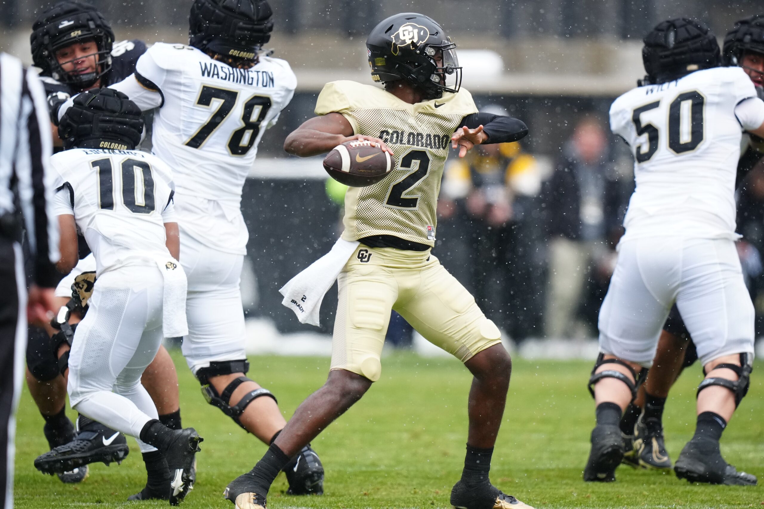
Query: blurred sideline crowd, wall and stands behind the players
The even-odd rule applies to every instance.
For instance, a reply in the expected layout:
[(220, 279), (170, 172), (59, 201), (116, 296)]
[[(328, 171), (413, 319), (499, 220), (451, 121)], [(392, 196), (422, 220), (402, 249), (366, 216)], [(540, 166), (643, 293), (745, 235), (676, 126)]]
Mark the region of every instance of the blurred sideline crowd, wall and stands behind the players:
[[(92, 0), (117, 39), (186, 42), (188, 2)], [(698, 18), (718, 37), (734, 21), (764, 10), (760, 0), (280, 0), (270, 45), (289, 61), (298, 89), (265, 135), (242, 208), (248, 266), (242, 281), (248, 316), (282, 333), (303, 330), (277, 290), (327, 252), (340, 231), (344, 189), (327, 181), (321, 159), (283, 153), (290, 130), (312, 116), (325, 82), (371, 82), (364, 40), (380, 19), (420, 11), (458, 43), (463, 86), (483, 111), (522, 119), (522, 143), (478, 147), (451, 157), (442, 181), (433, 253), (473, 293), (507, 337), (590, 338), (617, 256), (633, 190), (632, 160), (613, 137), (607, 111), (643, 76), (641, 37), (662, 18)], [(0, 43), (26, 63), (39, 0), (0, 3)], [(764, 168), (739, 191), (738, 231), (746, 281), (764, 333)], [(322, 332), (335, 301), (324, 300)], [(390, 343), (410, 344), (393, 314)]]

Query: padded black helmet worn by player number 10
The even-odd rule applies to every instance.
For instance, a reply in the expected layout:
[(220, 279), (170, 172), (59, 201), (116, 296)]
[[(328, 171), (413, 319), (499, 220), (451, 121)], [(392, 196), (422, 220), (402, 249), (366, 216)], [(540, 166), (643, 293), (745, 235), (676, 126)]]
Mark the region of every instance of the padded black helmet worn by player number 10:
[(141, 143), (144, 119), (128, 96), (114, 89), (77, 95), (58, 125), (63, 147), (132, 150)]

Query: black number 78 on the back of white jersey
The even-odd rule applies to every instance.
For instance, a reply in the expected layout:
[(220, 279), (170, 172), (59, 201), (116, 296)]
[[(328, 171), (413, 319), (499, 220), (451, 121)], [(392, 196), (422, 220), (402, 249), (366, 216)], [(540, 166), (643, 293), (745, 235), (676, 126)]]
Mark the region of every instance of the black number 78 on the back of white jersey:
[[(219, 101), (218, 108), (212, 112), (207, 121), (196, 130), (196, 133), (186, 141), (186, 147), (200, 149), (206, 143), (212, 133), (220, 127), (220, 124), (228, 118), (233, 111), (238, 91), (219, 89), (211, 85), (202, 85), (196, 105), (210, 108), (212, 101)], [(253, 95), (244, 102), (241, 108), (241, 127), (231, 133), (228, 138), (228, 152), (231, 156), (244, 156), (254, 145), (257, 134), (260, 133), (260, 124), (270, 109), (270, 97), (267, 95)]]

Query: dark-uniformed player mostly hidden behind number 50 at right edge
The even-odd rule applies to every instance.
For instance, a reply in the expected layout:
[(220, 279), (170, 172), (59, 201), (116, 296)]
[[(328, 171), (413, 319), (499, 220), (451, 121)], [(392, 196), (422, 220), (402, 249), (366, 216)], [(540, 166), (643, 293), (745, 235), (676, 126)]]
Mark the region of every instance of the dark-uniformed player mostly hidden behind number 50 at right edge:
[[(726, 66), (740, 66), (764, 99), (764, 15), (738, 21), (724, 37), (722, 60)], [(737, 167), (735, 187), (747, 172), (764, 157), (760, 138), (743, 135), (743, 155)], [(669, 389), (682, 369), (698, 359), (694, 343), (676, 306), (669, 313), (658, 343), (656, 358), (639, 395), (623, 414), (620, 427), (626, 437), (623, 461), (636, 466), (670, 469), (672, 462), (665, 448), (662, 415)], [(643, 410), (644, 409), (644, 410)], [(641, 413), (641, 417), (639, 417)], [(633, 435), (633, 436), (632, 436)], [(629, 449), (632, 449), (631, 451)]]

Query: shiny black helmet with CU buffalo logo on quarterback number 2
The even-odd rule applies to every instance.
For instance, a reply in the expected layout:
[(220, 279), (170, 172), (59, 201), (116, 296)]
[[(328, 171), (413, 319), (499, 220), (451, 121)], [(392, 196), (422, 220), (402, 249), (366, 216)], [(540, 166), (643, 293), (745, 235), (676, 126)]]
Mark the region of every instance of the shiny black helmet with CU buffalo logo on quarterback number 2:
[(458, 92), (461, 87), (456, 44), (437, 21), (423, 14), (390, 16), (374, 27), (366, 47), (375, 82), (403, 79), (428, 99)]

